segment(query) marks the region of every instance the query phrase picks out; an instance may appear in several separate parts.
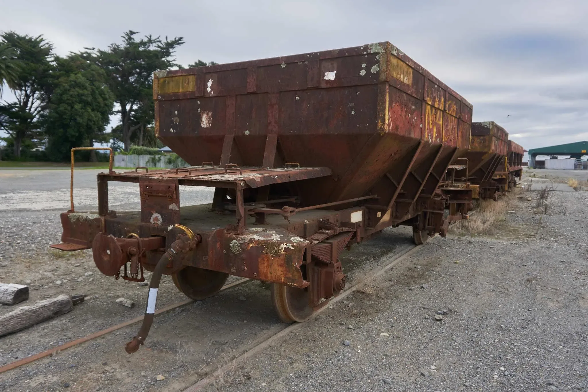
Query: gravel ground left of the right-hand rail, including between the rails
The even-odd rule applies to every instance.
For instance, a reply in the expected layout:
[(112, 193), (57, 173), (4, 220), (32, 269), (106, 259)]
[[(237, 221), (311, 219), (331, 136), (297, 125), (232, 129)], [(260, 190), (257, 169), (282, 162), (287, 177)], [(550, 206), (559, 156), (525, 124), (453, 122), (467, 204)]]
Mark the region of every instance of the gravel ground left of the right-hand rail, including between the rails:
[[(96, 172), (76, 170), (76, 210), (95, 209)], [(59, 213), (69, 208), (68, 170), (0, 170), (0, 177), (9, 179), (0, 185), (4, 209), (0, 282), (28, 284), (31, 289), (29, 300), (17, 306), (0, 306), (0, 315), (62, 293), (88, 296), (70, 313), (1, 337), (0, 365), (143, 314), (148, 287), (103, 276), (90, 250), (64, 253), (48, 248), (59, 242)], [(181, 189), (181, 205), (207, 202), (212, 195), (206, 193), (208, 189), (203, 190), (196, 193), (193, 188)], [(115, 209), (136, 210), (138, 189), (115, 184), (109, 200)], [(343, 259), (345, 271), (353, 269), (349, 281), (377, 266), (382, 256), (404, 252), (411, 246), (406, 227), (389, 230), (373, 242), (357, 246)], [(136, 306), (129, 309), (117, 304), (119, 297), (134, 300)], [(163, 276), (158, 309), (183, 300), (186, 297), (171, 278)], [(250, 282), (158, 317), (145, 346), (132, 356), (123, 346), (136, 334), (139, 324), (0, 374), (0, 390), (54, 391), (66, 388), (66, 384), (73, 391), (183, 390), (207, 374), (213, 361), (223, 362), (245, 352), (285, 327), (273, 311), (269, 287)], [(166, 379), (156, 381), (159, 374)]]

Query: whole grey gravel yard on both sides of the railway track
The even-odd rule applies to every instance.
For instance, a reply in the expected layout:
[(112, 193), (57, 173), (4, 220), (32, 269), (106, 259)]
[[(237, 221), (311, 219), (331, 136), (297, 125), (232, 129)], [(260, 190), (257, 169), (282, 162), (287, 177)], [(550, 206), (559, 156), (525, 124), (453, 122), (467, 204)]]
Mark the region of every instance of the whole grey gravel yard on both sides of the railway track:
[[(88, 297), (68, 314), (0, 338), (0, 365), (140, 316), (147, 294), (102, 276), (89, 251), (48, 250), (68, 209), (68, 170), (14, 172), (0, 170), (0, 282), (31, 287), (20, 305), (61, 293)], [(37, 185), (25, 185), (31, 178)], [(95, 171), (76, 171), (79, 209), (92, 209), (94, 180)], [(553, 190), (542, 202), (548, 209), (537, 207), (538, 193), (510, 197), (505, 219), (485, 234), (436, 237), (246, 363), (232, 358), (286, 327), (259, 282), (157, 317), (131, 356), (123, 345), (139, 324), (0, 374), (0, 390), (181, 391), (216, 364), (225, 371), (208, 390), (585, 389), (588, 192)], [(133, 187), (111, 195), (116, 209), (138, 208)], [(195, 192), (182, 204), (210, 196)], [(353, 282), (410, 246), (406, 227), (387, 229), (345, 253), (345, 272)], [(185, 300), (169, 277), (160, 293), (158, 308)], [(118, 297), (135, 308), (116, 304)], [(0, 306), (0, 314), (13, 308)]]

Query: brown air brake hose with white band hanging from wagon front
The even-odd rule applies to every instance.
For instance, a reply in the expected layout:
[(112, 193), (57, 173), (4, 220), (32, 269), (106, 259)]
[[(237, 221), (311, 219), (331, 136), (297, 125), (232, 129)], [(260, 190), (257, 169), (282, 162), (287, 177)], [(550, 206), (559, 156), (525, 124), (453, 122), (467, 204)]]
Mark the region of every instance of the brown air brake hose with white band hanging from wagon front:
[[(176, 237), (177, 239), (172, 243), (168, 250), (163, 253), (159, 262), (157, 262), (153, 274), (151, 275), (151, 282), (149, 282), (149, 296), (147, 297), (147, 306), (145, 309), (145, 316), (143, 317), (143, 323), (139, 332), (129, 343), (125, 345), (125, 351), (129, 354), (135, 353), (139, 350), (139, 346), (143, 344), (151, 324), (153, 324), (153, 317), (155, 316), (155, 302), (157, 300), (157, 292), (159, 290), (159, 282), (161, 281), (161, 275), (165, 270), (165, 267), (172, 262), (172, 260), (178, 256), (179, 253), (183, 253), (189, 249), (189, 239), (185, 234)], [(183, 240), (185, 238), (185, 240)]]

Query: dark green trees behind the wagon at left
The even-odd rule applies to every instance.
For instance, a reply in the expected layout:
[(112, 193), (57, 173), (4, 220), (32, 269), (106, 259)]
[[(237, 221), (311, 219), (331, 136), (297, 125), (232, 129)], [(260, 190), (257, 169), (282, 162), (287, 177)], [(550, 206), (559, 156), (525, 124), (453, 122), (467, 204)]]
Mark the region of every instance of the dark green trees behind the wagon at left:
[[(71, 148), (110, 139), (125, 151), (133, 145), (161, 147), (153, 132), (152, 75), (182, 68), (174, 52), (183, 43), (183, 37), (138, 38), (129, 30), (121, 43), (106, 49), (84, 48), (61, 57), (42, 35), (0, 33), (0, 97), (6, 96), (5, 88), (15, 97), (0, 103), (0, 130), (10, 148), (5, 155), (21, 159), (43, 143), (47, 159), (62, 161)], [(207, 63), (188, 66), (202, 65)], [(105, 133), (112, 114), (118, 125)]]

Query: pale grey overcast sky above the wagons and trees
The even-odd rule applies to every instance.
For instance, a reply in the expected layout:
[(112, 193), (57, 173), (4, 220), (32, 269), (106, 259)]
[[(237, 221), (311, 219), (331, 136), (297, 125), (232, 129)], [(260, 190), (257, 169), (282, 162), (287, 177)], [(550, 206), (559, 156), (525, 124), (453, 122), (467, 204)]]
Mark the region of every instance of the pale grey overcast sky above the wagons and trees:
[(183, 65), (390, 41), (524, 148), (588, 140), (587, 0), (0, 0), (1, 31), (42, 34), (59, 55), (128, 29), (185, 37)]

